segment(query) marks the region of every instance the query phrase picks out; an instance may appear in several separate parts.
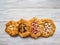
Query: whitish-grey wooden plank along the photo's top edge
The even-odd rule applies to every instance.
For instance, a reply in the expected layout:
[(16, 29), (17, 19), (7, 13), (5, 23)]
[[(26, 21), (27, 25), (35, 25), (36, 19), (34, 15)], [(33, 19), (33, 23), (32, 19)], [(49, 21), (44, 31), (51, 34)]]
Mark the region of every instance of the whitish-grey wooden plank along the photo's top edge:
[(60, 8), (60, 0), (0, 0), (0, 10), (10, 8)]

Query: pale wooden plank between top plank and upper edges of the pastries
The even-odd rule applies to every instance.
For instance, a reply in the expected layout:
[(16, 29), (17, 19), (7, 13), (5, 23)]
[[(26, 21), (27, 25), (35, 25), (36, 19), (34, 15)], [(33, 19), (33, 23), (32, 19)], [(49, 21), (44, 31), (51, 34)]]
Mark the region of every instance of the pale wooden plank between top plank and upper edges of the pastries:
[(20, 18), (32, 18), (34, 16), (39, 18), (52, 18), (54, 21), (60, 21), (60, 9), (6, 9), (0, 11), (0, 21), (18, 20)]

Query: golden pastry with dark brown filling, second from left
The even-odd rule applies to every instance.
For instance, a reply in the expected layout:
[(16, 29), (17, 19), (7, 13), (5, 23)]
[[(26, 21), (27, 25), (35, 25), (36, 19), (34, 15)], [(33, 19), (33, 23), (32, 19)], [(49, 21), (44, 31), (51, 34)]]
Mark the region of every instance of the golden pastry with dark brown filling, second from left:
[(27, 20), (21, 19), (18, 21), (18, 32), (20, 37), (28, 37), (30, 34), (30, 26)]

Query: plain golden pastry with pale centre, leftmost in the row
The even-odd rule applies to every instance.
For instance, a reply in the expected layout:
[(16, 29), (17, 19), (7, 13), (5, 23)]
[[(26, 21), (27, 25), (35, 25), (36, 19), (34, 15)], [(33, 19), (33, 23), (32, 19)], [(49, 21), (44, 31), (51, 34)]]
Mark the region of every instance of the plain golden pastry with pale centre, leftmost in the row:
[(10, 36), (16, 36), (18, 34), (18, 28), (17, 27), (18, 27), (17, 22), (11, 20), (11, 21), (7, 22), (5, 31)]

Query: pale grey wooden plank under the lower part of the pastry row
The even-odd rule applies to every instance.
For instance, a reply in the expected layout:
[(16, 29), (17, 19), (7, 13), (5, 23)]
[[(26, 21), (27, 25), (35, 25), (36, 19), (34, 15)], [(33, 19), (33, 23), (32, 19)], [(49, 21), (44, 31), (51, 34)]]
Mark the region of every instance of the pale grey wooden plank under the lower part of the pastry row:
[(40, 37), (38, 39), (33, 38), (21, 38), (17, 37), (10, 37), (5, 32), (5, 21), (0, 22), (0, 45), (59, 45), (60, 44), (60, 22), (55, 22), (56, 24), (56, 31), (52, 37), (43, 38)]

